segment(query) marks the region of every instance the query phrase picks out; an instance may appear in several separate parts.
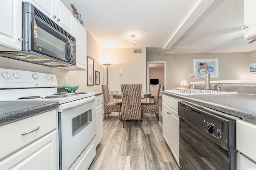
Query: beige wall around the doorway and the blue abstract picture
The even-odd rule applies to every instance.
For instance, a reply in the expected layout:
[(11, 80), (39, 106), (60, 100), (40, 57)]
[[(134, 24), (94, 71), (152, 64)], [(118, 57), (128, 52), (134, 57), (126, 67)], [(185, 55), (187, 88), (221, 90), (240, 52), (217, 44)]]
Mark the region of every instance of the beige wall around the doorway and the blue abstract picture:
[[(177, 61), (174, 61), (174, 58)], [(193, 59), (219, 59), (219, 78), (214, 80), (250, 79), (249, 53), (203, 53), (203, 54), (174, 54), (147, 55), (146, 61), (166, 61), (166, 90), (180, 88), (182, 79), (198, 82), (200, 79), (187, 78), (193, 74)]]

